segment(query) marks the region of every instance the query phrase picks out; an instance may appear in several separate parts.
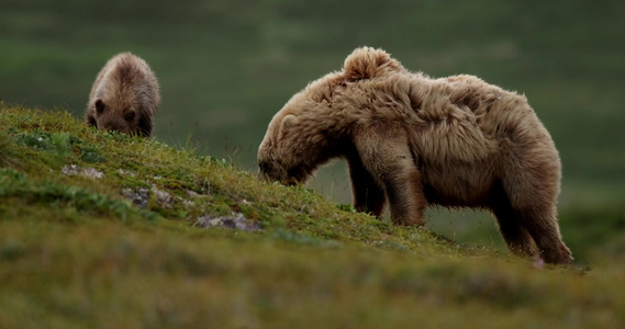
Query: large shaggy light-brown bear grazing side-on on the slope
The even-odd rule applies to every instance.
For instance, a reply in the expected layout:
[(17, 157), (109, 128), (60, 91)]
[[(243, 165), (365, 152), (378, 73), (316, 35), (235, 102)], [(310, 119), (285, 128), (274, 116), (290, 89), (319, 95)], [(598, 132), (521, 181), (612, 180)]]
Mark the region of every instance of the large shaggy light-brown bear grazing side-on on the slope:
[(258, 150), (261, 174), (288, 184), (334, 158), (348, 162), (358, 211), (379, 216), (388, 201), (393, 223), (423, 225), (429, 205), (488, 208), (513, 252), (572, 261), (556, 218), (558, 151), (522, 95), (358, 48), (291, 98)]

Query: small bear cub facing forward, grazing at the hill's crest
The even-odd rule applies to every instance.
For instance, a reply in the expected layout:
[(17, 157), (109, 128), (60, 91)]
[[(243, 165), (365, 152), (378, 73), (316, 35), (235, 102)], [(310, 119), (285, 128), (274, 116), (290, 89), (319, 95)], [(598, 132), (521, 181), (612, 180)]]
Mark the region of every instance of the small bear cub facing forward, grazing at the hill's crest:
[(119, 54), (102, 68), (89, 95), (89, 126), (148, 137), (152, 118), (160, 104), (156, 76), (131, 53)]

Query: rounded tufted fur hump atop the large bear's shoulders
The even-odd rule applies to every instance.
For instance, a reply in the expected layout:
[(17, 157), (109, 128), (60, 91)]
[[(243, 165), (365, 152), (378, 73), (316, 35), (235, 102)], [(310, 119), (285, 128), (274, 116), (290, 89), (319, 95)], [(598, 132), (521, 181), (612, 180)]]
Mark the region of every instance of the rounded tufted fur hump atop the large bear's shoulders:
[(388, 71), (402, 71), (403, 66), (382, 50), (371, 47), (356, 48), (347, 56), (343, 72), (349, 81), (379, 77)]

